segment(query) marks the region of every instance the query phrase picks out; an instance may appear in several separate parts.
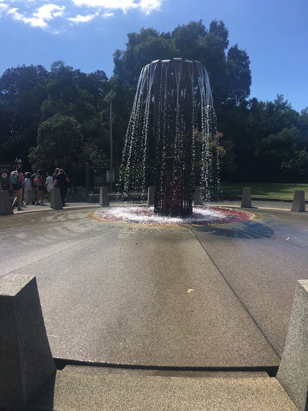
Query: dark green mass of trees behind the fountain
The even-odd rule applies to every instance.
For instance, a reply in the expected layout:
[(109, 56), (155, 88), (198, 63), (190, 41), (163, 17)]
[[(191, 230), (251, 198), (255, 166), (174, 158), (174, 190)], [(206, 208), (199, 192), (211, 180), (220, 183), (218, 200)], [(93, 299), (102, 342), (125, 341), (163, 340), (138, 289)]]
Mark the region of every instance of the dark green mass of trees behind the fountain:
[[(308, 177), (308, 109), (301, 113), (277, 94), (262, 102), (250, 96), (246, 50), (229, 43), (223, 21), (178, 25), (171, 32), (141, 28), (127, 35), (113, 55), (108, 79), (99, 69), (87, 74), (61, 60), (48, 71), (17, 66), (0, 77), (0, 161), (21, 159), (26, 168), (67, 168), (75, 178), (85, 163), (109, 161), (109, 105), (113, 100), (114, 164), (120, 165), (126, 128), (143, 66), (157, 59), (197, 59), (209, 73), (220, 145), (221, 178), (229, 181), (293, 181)], [(279, 90), (277, 90), (279, 92)], [(79, 173), (79, 174), (78, 174)]]

